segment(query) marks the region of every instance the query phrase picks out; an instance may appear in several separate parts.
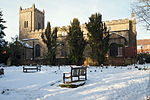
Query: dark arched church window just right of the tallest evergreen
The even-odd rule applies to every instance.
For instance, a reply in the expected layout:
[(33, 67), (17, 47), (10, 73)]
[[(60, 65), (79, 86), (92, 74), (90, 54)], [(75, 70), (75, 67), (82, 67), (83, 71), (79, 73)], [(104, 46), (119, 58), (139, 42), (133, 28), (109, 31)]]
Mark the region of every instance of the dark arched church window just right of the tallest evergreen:
[(110, 56), (117, 57), (118, 56), (118, 45), (116, 43), (112, 43), (110, 45)]

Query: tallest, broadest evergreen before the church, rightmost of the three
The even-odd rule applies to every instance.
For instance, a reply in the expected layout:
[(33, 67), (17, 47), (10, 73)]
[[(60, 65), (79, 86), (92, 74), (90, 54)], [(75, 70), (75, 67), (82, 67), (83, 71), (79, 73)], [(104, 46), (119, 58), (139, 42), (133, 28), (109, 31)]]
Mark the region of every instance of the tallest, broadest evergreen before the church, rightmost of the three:
[(103, 64), (106, 53), (109, 49), (109, 31), (105, 23), (102, 22), (102, 15), (99, 13), (91, 15), (86, 23), (88, 30), (89, 44), (92, 48), (92, 57), (98, 64)]

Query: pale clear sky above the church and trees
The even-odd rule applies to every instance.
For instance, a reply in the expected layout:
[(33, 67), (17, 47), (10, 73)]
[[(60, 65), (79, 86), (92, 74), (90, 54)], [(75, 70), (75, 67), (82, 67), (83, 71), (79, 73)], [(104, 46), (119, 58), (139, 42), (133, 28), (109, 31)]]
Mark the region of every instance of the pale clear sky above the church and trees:
[[(131, 18), (131, 3), (133, 0), (0, 0), (0, 10), (5, 26), (6, 40), (19, 35), (19, 8), (31, 7), (34, 3), (39, 10), (45, 10), (45, 24), (51, 26), (69, 25), (73, 18), (78, 18), (80, 23), (88, 22), (91, 14), (99, 12), (103, 21)], [(142, 25), (137, 24), (137, 39), (150, 38)]]

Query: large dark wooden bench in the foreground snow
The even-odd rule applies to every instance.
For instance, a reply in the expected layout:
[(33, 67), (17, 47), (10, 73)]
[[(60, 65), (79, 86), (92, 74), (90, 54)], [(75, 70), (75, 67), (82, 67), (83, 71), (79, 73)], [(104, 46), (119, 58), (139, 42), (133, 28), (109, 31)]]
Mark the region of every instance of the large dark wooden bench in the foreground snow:
[(87, 67), (71, 67), (71, 72), (63, 73), (63, 83), (67, 83), (66, 79), (71, 79), (71, 83), (87, 80)]

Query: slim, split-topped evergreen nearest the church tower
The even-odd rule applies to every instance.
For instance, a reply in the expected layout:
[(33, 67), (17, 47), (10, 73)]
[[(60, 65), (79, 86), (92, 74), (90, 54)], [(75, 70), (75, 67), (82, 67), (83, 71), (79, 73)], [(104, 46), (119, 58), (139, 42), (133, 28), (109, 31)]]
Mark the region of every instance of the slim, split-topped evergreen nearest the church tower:
[(56, 48), (57, 48), (57, 28), (51, 29), (50, 22), (47, 23), (45, 33), (42, 33), (41, 38), (48, 48), (47, 59), (50, 65), (56, 63)]

